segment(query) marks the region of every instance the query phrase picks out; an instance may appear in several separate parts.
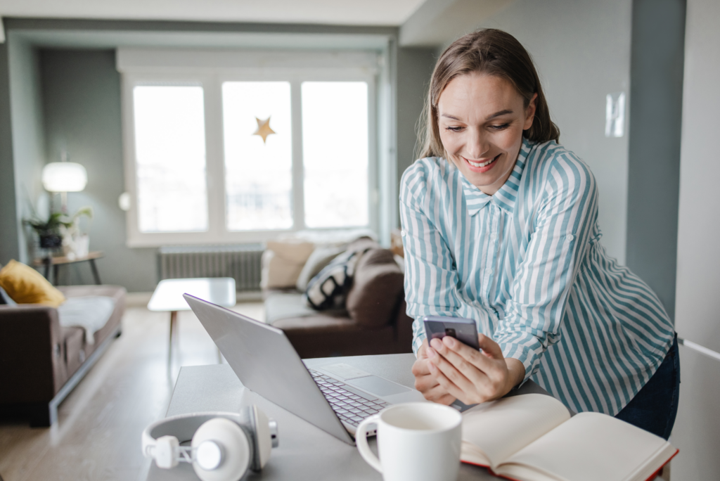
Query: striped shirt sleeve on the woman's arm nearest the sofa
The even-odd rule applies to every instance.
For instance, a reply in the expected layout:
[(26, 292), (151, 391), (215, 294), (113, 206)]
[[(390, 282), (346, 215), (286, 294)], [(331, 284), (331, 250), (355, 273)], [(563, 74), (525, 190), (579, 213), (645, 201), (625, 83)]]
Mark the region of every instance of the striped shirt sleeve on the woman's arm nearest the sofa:
[(457, 272), (441, 233), (426, 215), (428, 170), (419, 161), (400, 182), (400, 223), (405, 251), (405, 301), (413, 321), (413, 352), (426, 338), (426, 315), (454, 316), (460, 307)]

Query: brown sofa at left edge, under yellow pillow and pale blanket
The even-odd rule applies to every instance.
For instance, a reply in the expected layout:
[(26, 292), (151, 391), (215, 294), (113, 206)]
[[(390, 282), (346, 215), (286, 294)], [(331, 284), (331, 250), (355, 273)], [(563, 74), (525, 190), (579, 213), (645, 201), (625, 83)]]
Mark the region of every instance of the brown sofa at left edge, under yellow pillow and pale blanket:
[(107, 322), (86, 342), (79, 327), (64, 327), (58, 310), (37, 304), (0, 305), (0, 412), (27, 415), (30, 426), (50, 426), (58, 405), (120, 336), (125, 288), (58, 287), (71, 297), (114, 299)]

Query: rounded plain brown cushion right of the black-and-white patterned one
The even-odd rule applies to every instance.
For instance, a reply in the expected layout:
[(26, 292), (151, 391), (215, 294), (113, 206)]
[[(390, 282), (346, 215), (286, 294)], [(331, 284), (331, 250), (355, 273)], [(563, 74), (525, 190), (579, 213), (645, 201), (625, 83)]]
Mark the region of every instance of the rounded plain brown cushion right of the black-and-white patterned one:
[(367, 251), (355, 269), (353, 286), (346, 307), (350, 317), (364, 327), (379, 328), (390, 323), (397, 298), (403, 292), (404, 275), (392, 251)]

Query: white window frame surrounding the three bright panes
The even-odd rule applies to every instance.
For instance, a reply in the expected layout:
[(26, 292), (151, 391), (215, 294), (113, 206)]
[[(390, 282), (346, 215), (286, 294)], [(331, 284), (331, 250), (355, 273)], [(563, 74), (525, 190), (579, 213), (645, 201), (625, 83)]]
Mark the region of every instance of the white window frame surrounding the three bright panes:
[[(212, 52), (179, 53), (118, 51), (122, 74), (122, 126), (125, 190), (132, 199), (127, 214), (127, 246), (157, 247), (264, 242), (299, 230), (327, 231), (369, 228), (379, 231), (379, 71), (378, 52)], [(177, 55), (179, 53), (179, 55)], [(215, 58), (212, 58), (215, 55)], [(348, 58), (349, 57), (349, 58)], [(169, 60), (168, 60), (169, 58)], [(182, 65), (176, 60), (182, 59)], [(228, 58), (230, 62), (228, 62)], [(352, 65), (352, 60), (360, 60)], [(128, 60), (130, 59), (130, 60)], [(303, 61), (305, 60), (305, 61)], [(348, 61), (349, 60), (349, 61)], [(165, 63), (163, 63), (163, 61)], [(134, 64), (133, 64), (134, 63)], [(228, 67), (230, 63), (230, 67)], [(289, 66), (287, 65), (289, 63)], [(234, 64), (234, 66), (233, 66)], [(243, 65), (243, 66), (238, 66)], [(293, 226), (283, 230), (230, 231), (226, 221), (225, 145), (222, 124), (222, 84), (228, 81), (287, 81), (290, 84), (292, 119), (292, 216)], [(302, 83), (305, 81), (363, 81), (368, 86), (368, 217), (364, 226), (307, 228), (302, 155)], [(138, 224), (133, 89), (138, 85), (200, 85), (203, 88), (208, 230), (204, 232), (143, 233)]]

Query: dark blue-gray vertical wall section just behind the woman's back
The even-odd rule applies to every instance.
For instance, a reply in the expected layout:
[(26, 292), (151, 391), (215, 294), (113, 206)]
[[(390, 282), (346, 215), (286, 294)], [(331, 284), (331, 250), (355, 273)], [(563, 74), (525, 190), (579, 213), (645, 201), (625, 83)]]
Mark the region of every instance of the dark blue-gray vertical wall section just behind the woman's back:
[(675, 317), (684, 0), (634, 0), (627, 265)]

